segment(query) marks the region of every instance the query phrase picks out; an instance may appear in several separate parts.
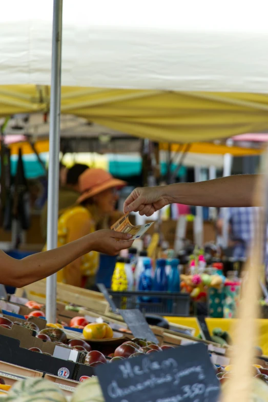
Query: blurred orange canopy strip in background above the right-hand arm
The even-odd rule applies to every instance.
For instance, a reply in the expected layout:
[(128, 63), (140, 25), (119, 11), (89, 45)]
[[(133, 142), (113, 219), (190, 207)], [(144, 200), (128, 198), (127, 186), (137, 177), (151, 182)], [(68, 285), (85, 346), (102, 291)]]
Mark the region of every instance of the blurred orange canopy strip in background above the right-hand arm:
[[(160, 149), (168, 150), (169, 144), (160, 144)], [(185, 152), (189, 151), (192, 154), (210, 154), (210, 155), (225, 155), (231, 154), (234, 157), (260, 155), (263, 149), (242, 148), (238, 146), (217, 145), (210, 142), (195, 142), (190, 144), (190, 148), (186, 145), (171, 144), (170, 150), (172, 152)]]

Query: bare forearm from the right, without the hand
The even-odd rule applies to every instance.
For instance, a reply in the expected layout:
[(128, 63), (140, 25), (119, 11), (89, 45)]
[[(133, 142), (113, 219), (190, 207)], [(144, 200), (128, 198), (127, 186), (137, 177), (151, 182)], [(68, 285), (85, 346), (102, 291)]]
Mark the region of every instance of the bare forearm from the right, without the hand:
[(237, 175), (198, 183), (165, 187), (171, 203), (232, 207), (252, 206), (258, 175)]

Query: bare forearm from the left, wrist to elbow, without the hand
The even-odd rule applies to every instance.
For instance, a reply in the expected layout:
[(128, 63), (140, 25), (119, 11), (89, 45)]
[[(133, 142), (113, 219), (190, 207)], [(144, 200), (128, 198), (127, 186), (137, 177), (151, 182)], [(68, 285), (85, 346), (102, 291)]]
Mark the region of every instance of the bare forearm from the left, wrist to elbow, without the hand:
[[(15, 285), (17, 288), (25, 286), (56, 273), (71, 261), (92, 250), (93, 241), (91, 235), (88, 235), (54, 250), (33, 254), (20, 261), (8, 256), (3, 257), (3, 260), (8, 258), (9, 271), (3, 272), (1, 282)], [(5, 266), (5, 261), (3, 265)]]

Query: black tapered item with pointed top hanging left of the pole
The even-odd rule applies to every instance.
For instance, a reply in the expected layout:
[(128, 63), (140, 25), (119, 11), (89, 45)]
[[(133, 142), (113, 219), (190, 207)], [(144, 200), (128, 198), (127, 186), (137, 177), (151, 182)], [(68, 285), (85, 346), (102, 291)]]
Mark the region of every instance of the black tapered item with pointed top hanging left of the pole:
[(17, 171), (15, 177), (13, 215), (23, 230), (30, 227), (30, 194), (24, 174), (22, 150), (19, 149)]

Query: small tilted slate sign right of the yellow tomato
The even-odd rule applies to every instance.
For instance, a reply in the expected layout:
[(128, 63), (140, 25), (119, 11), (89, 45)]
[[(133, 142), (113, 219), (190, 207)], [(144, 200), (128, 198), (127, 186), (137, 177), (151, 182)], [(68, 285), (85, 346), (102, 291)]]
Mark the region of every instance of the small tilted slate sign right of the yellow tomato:
[(159, 343), (140, 310), (119, 310), (119, 313), (126, 324), (128, 324), (128, 327), (135, 338), (147, 339)]

